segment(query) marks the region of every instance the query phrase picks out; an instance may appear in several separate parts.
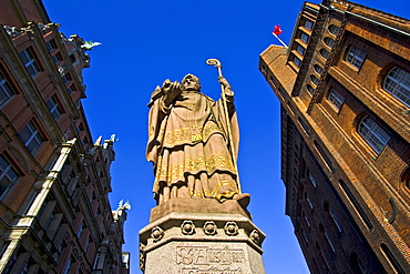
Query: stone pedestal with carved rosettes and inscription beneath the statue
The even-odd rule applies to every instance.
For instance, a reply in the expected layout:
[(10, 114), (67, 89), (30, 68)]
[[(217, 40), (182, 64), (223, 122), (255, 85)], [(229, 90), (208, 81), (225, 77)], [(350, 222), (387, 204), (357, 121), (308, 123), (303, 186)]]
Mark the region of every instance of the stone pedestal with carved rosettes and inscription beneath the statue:
[(262, 274), (265, 234), (236, 201), (173, 199), (140, 231), (145, 274)]

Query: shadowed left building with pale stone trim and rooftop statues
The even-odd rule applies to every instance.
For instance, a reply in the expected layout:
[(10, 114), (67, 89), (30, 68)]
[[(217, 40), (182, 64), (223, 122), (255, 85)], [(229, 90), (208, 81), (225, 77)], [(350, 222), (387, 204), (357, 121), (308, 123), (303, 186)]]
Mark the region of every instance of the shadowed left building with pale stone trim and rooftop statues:
[(41, 1), (0, 7), (0, 273), (126, 273), (115, 136), (93, 143), (81, 103), (92, 44)]

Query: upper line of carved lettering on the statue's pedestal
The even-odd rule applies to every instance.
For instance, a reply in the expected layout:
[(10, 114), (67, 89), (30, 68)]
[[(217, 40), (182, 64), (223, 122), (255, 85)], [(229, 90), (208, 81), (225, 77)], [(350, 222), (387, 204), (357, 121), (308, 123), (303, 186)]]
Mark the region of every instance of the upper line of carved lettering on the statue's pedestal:
[[(182, 265), (232, 265), (245, 262), (244, 250), (211, 248), (206, 246), (177, 246), (176, 264)], [(199, 272), (194, 272), (199, 273)], [(207, 273), (207, 272), (206, 272)], [(218, 272), (224, 273), (224, 272)], [(227, 272), (235, 273), (235, 272)]]

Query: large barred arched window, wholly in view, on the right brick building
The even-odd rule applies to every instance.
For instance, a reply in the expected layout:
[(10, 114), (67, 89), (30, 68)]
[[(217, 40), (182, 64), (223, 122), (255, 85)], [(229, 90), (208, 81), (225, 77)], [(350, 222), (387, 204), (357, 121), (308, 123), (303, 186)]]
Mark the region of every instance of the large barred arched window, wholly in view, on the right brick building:
[(360, 121), (358, 133), (377, 154), (380, 154), (390, 140), (389, 134), (369, 116), (365, 116)]

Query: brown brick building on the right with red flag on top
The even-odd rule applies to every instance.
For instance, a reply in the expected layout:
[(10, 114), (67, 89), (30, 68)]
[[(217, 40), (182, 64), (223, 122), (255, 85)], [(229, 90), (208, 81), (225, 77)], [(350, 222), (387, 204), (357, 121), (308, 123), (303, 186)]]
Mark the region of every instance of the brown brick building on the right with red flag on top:
[(286, 214), (311, 273), (410, 262), (410, 21), (305, 2), (259, 70), (281, 103)]

